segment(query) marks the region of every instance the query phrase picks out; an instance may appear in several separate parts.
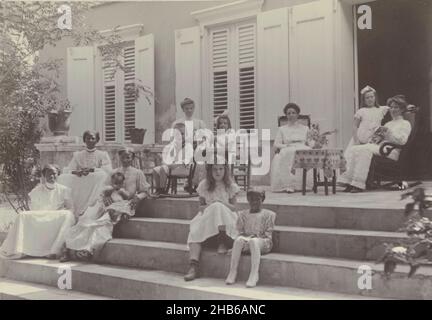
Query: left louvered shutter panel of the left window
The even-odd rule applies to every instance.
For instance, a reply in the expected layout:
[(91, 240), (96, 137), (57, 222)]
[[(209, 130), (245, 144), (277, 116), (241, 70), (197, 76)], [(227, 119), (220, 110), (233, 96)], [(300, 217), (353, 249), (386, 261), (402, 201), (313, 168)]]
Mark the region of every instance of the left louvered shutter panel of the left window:
[(119, 136), (117, 117), (117, 85), (115, 64), (113, 61), (103, 61), (103, 118), (105, 142), (116, 142)]

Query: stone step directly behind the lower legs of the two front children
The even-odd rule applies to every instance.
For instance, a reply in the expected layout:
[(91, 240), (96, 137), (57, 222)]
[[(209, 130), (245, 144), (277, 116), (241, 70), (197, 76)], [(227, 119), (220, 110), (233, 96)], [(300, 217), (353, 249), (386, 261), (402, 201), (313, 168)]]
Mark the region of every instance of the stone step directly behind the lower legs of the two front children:
[[(185, 273), (188, 268), (186, 245), (134, 239), (114, 239), (106, 244), (100, 263), (134, 268)], [(229, 269), (230, 257), (204, 251), (201, 257), (202, 276), (223, 279)], [(372, 289), (359, 288), (359, 267), (372, 270)], [(239, 279), (246, 280), (250, 257), (244, 256), (239, 266)], [(432, 268), (422, 267), (412, 278), (408, 268), (398, 266), (390, 280), (382, 277), (383, 265), (364, 261), (319, 258), (270, 253), (260, 266), (260, 283), (308, 290), (396, 299), (432, 299)]]

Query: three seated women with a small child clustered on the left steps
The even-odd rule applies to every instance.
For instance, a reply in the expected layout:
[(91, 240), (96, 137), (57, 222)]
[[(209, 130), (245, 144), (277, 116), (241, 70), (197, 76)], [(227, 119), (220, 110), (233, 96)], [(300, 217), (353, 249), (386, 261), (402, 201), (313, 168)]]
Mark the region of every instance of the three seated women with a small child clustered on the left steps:
[(134, 215), (150, 185), (132, 167), (131, 149), (119, 152), (121, 166), (113, 170), (108, 153), (96, 149), (99, 139), (97, 132), (84, 132), (86, 149), (75, 152), (62, 173), (52, 164), (43, 167), (29, 194), (31, 210), (17, 215), (0, 255), (90, 260), (112, 239), (114, 225)]

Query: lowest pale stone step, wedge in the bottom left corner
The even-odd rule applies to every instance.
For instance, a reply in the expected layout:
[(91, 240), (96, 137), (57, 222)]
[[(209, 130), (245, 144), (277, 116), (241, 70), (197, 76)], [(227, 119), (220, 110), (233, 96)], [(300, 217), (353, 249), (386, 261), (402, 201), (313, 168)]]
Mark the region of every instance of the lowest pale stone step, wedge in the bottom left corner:
[(104, 296), (0, 278), (0, 300), (112, 300)]

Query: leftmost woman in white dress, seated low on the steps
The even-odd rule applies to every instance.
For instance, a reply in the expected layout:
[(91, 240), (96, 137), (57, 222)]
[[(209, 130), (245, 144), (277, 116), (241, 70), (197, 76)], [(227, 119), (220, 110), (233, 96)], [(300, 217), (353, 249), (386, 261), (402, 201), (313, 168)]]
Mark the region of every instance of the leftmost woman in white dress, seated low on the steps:
[(61, 254), (67, 231), (75, 224), (70, 189), (56, 182), (58, 169), (46, 165), (41, 183), (29, 194), (30, 211), (16, 216), (0, 247), (10, 259), (23, 256), (54, 259)]

